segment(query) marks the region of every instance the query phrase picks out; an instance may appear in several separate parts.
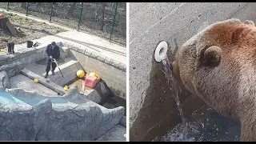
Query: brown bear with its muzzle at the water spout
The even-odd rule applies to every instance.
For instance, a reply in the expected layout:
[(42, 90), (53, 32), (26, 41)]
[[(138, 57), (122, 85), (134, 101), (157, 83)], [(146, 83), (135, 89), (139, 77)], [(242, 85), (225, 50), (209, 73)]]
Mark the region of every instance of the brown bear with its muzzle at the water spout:
[(185, 42), (172, 64), (174, 78), (220, 114), (241, 122), (241, 141), (256, 141), (256, 27), (216, 22)]

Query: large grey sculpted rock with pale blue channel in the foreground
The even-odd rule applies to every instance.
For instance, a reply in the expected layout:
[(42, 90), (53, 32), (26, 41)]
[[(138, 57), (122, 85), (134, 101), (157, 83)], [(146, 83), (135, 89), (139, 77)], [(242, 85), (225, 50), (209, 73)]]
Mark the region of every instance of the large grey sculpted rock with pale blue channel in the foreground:
[(93, 141), (118, 125), (125, 110), (86, 100), (77, 86), (62, 97), (13, 89), (0, 94), (0, 104), (2, 141)]

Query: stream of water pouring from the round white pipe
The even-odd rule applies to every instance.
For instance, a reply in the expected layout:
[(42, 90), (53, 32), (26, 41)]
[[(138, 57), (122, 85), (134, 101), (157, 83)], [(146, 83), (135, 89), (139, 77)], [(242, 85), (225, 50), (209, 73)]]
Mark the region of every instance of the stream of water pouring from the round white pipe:
[(181, 90), (180, 87), (178, 86), (177, 81), (174, 79), (172, 72), (170, 70), (170, 61), (167, 58), (167, 55), (164, 56), (164, 58), (162, 59), (162, 64), (164, 66), (164, 73), (166, 75), (166, 79), (167, 79), (167, 83), (170, 86), (170, 90), (172, 90), (174, 92), (174, 98), (175, 101), (177, 103), (178, 106), (178, 111), (179, 114), (182, 118), (182, 124), (183, 124), (183, 134), (176, 134), (174, 136), (172, 136), (170, 138), (170, 141), (178, 141), (178, 142), (182, 142), (182, 141), (190, 141), (192, 139), (188, 139), (188, 126), (186, 124), (186, 119), (184, 117), (184, 114), (182, 112), (182, 107), (180, 106), (180, 101), (178, 98), (178, 91)]

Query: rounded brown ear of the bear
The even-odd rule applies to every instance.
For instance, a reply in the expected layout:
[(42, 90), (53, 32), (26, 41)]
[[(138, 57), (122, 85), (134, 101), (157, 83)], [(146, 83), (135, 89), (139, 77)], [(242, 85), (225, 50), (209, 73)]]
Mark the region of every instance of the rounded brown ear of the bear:
[(206, 66), (218, 66), (221, 62), (222, 50), (218, 46), (210, 46), (204, 52), (204, 60)]

